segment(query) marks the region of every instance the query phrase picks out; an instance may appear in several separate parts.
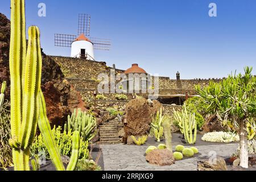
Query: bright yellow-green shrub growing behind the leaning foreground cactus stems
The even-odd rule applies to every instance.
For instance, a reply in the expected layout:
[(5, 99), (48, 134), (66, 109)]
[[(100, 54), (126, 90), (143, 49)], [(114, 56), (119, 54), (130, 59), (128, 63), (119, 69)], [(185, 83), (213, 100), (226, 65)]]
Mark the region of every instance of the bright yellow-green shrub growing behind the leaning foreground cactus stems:
[[(73, 133), (72, 131), (64, 131), (61, 133), (61, 127), (53, 127), (52, 129), (53, 137), (55, 139), (57, 148), (59, 149), (61, 156), (69, 156), (69, 158), (72, 155), (72, 141), (73, 141)], [(81, 137), (82, 140), (82, 137)], [(34, 142), (32, 143), (32, 146), (30, 148), (31, 156), (39, 156), (42, 155), (46, 159), (51, 159), (51, 156), (49, 155), (48, 149), (46, 145), (44, 144), (43, 136), (42, 134), (35, 137)], [(89, 150), (88, 150), (88, 141), (82, 140), (80, 142), (80, 148), (79, 148), (79, 159), (88, 159), (89, 158)]]

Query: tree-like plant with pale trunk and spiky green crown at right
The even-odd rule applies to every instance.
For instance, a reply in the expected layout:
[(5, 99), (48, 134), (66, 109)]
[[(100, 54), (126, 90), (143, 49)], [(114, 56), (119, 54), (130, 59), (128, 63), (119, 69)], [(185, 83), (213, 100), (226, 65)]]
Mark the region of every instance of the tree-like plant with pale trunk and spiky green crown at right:
[(196, 86), (196, 90), (210, 109), (216, 110), (222, 118), (230, 118), (240, 134), (240, 166), (248, 168), (246, 124), (256, 114), (256, 77), (252, 75), (253, 68), (244, 70), (244, 75), (231, 74), (220, 83), (210, 81), (203, 89)]

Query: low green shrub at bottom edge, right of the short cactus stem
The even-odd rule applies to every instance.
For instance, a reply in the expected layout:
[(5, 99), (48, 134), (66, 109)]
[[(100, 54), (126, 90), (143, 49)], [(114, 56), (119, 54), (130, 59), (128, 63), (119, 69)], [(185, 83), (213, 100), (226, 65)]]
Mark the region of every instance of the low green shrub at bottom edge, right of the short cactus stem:
[(80, 159), (77, 163), (76, 171), (101, 171), (101, 167), (93, 160)]

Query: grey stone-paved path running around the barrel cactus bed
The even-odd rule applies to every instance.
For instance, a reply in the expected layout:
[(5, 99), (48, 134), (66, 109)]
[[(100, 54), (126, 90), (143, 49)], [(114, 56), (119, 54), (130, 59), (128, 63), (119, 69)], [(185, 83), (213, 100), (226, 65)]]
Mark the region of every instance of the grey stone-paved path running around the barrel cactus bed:
[[(200, 154), (194, 158), (175, 162), (172, 166), (154, 166), (148, 164), (144, 152), (147, 146), (112, 144), (102, 146), (104, 166), (106, 171), (195, 171), (197, 161), (210, 159), (214, 155), (224, 158), (230, 157), (238, 148), (238, 144), (220, 144), (196, 146)], [(210, 153), (210, 154), (209, 154)]]

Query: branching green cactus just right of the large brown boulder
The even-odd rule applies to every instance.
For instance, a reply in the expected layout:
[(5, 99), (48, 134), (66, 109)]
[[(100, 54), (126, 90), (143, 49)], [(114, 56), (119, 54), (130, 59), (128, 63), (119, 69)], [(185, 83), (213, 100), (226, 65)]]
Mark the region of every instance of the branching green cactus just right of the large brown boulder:
[(155, 139), (160, 142), (163, 137), (163, 123), (167, 121), (169, 118), (166, 115), (163, 115), (162, 108), (160, 112), (156, 113), (156, 116), (153, 118), (151, 123), (151, 130), (154, 131)]

